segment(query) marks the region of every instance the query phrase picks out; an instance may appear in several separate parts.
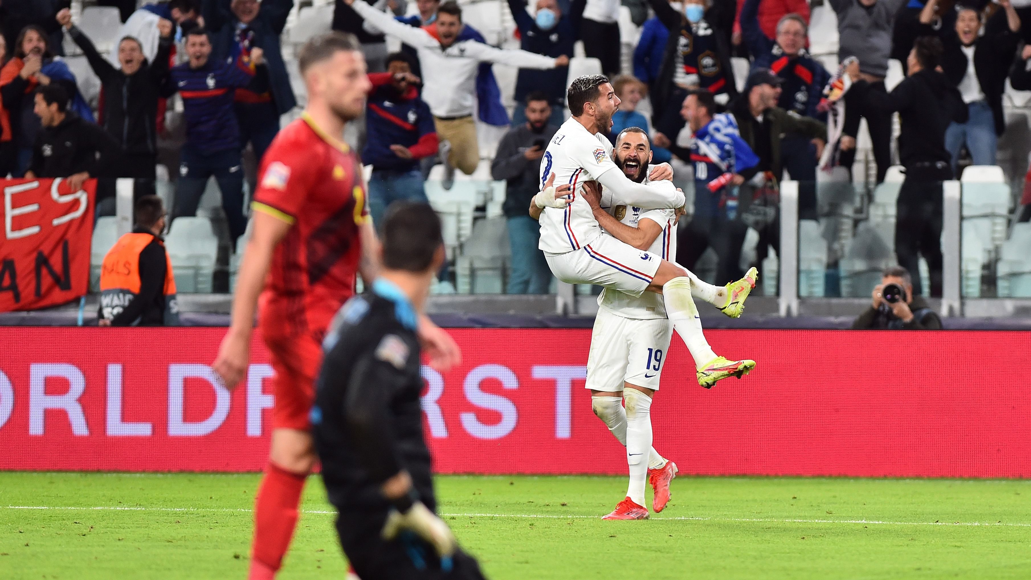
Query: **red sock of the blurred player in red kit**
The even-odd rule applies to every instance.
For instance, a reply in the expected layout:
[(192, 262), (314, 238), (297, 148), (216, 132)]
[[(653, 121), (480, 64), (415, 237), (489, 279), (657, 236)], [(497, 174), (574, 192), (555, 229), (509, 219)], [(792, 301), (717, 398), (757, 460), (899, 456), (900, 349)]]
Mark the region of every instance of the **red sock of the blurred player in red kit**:
[(251, 578), (271, 578), (282, 565), (297, 525), (297, 506), (307, 474), (295, 474), (271, 461), (255, 498), (255, 538)]

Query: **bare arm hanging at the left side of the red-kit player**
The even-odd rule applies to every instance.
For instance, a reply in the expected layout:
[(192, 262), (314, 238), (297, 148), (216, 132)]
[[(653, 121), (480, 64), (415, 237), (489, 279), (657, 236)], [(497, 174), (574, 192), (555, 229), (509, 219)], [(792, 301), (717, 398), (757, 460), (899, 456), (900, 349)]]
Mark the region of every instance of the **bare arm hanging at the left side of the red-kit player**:
[(239, 384), (246, 373), (258, 296), (265, 287), (265, 278), (268, 276), (275, 247), (293, 227), (292, 223), (264, 212), (254, 212), (252, 215), (253, 231), (236, 280), (229, 331), (222, 341), (219, 357), (213, 365), (214, 372), (222, 377), (228, 388)]

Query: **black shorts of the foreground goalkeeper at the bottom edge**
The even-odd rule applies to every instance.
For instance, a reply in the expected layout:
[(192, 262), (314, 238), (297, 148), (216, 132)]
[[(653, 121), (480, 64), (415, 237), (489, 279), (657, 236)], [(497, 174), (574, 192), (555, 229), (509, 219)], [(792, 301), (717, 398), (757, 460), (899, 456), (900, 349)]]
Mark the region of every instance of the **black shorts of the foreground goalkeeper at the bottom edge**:
[(485, 580), (475, 558), (457, 549), (452, 570), (440, 568), (433, 547), (412, 534), (390, 542), (380, 537), (387, 511), (340, 510), (336, 531), (340, 546), (362, 580)]

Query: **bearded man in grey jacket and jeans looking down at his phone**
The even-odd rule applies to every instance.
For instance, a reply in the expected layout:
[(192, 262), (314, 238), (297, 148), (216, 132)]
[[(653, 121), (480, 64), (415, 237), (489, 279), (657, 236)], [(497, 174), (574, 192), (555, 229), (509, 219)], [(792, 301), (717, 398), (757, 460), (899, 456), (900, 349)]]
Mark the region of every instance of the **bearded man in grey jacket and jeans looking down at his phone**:
[(540, 224), (526, 213), (530, 200), (540, 191), (540, 159), (548, 141), (559, 130), (552, 123), (551, 99), (542, 92), (526, 97), (526, 122), (512, 125), (501, 137), (498, 153), (491, 162), (491, 175), (507, 182), (502, 211), (508, 224), (511, 268), (508, 294), (546, 294), (552, 285), (552, 270), (544, 253), (537, 248)]

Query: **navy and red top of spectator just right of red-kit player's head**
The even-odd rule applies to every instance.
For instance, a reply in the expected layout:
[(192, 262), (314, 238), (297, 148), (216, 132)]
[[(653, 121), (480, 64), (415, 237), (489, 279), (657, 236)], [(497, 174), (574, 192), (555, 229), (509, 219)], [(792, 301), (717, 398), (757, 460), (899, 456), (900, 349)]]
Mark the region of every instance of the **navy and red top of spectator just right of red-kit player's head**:
[[(387, 73), (381, 73), (387, 74)], [(370, 75), (371, 77), (372, 75)], [(418, 149), (412, 151), (413, 159), (402, 159), (391, 151), (390, 146), (399, 144), (411, 149), (423, 140), (426, 153), (436, 153), (436, 139), (424, 139), (435, 135), (433, 114), (414, 87), (409, 87), (404, 95), (399, 95), (391, 85), (380, 85), (369, 94), (365, 110), (367, 138), (362, 150), (362, 163), (372, 165), (374, 170), (390, 169), (410, 171), (419, 166), (422, 157)]]

